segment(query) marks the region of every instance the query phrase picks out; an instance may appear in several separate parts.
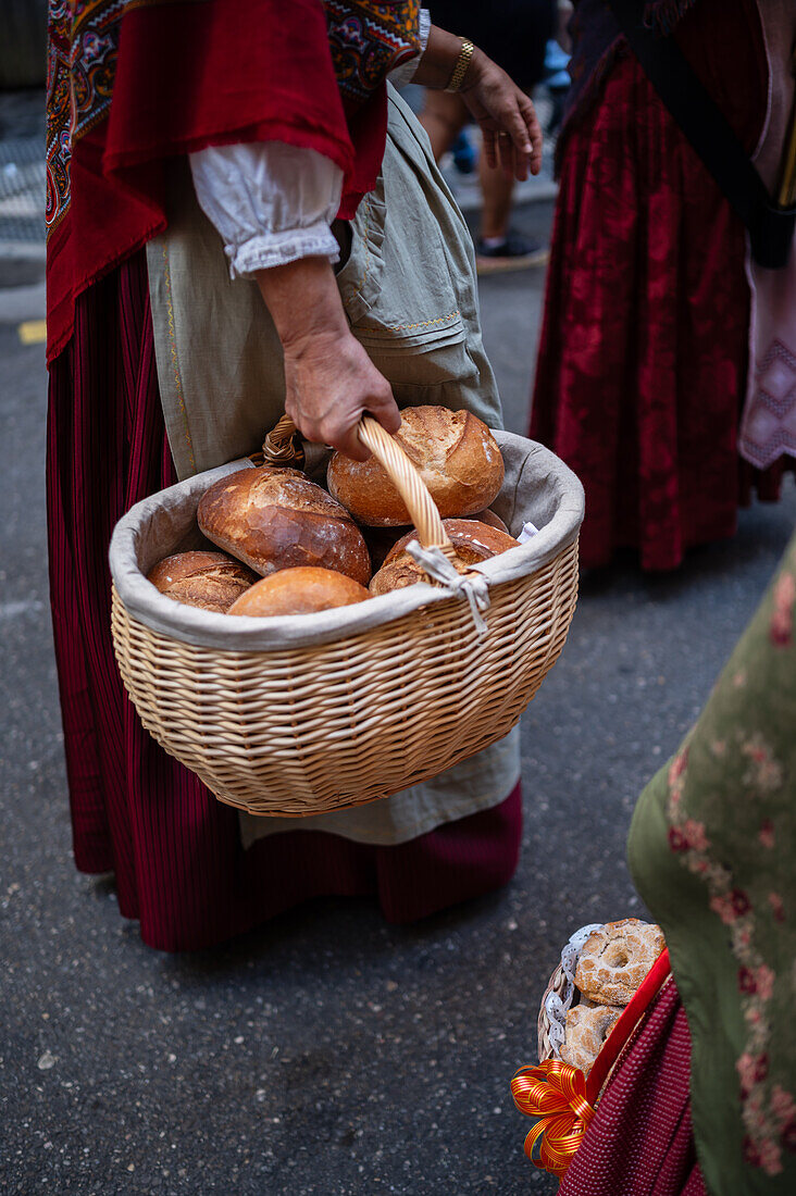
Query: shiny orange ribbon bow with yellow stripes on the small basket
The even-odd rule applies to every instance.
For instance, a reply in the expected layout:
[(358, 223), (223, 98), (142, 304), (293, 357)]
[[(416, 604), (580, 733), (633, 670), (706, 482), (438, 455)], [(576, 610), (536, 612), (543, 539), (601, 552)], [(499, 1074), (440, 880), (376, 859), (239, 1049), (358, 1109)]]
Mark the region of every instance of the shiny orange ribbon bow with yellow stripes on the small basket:
[[(583, 1072), (558, 1058), (521, 1067), (511, 1081), (511, 1096), (521, 1113), (539, 1118), (525, 1137), (525, 1154), (534, 1166), (560, 1178), (595, 1112)], [(539, 1159), (534, 1159), (540, 1137)]]

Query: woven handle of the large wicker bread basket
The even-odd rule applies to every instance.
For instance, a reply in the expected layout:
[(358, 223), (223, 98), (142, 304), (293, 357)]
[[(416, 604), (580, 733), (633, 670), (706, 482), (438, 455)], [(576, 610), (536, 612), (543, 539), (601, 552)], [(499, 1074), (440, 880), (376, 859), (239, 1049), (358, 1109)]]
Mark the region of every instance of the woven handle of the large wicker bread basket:
[[(361, 443), (384, 466), (403, 499), (421, 545), (442, 548), (445, 556), (452, 560), (456, 555), (454, 545), (442, 525), (435, 500), (397, 440), (394, 440), (372, 415), (363, 415), (357, 431)], [(266, 437), (262, 446), (263, 459), (272, 465), (298, 464), (300, 458), (294, 438), (296, 425), (290, 415), (282, 415), (273, 432)], [(298, 468), (300, 469), (300, 465)]]

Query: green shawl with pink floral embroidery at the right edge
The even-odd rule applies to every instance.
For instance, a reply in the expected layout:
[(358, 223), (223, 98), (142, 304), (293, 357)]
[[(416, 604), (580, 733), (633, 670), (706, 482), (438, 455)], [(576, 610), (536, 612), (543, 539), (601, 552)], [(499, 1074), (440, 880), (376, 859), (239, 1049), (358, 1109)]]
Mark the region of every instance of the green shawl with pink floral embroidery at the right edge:
[(717, 1196), (796, 1191), (796, 536), (686, 743), (642, 794), (630, 862), (692, 1038)]

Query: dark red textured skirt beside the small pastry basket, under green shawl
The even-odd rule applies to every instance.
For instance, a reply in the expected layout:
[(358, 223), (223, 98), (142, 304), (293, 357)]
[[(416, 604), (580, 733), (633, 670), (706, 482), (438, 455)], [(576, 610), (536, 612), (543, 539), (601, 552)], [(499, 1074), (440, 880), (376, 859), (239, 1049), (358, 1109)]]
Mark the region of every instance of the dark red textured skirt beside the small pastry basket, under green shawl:
[(689, 1075), (688, 1024), (670, 983), (620, 1060), (559, 1196), (706, 1196)]

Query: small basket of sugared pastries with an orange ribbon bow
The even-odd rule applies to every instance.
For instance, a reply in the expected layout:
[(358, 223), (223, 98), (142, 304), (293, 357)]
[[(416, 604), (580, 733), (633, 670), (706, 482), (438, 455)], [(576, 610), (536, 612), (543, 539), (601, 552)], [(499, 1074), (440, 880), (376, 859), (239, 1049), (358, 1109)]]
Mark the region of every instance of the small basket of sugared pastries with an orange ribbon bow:
[(511, 1081), (517, 1109), (535, 1124), (525, 1154), (563, 1177), (644, 1014), (669, 980), (658, 926), (626, 917), (570, 938), (539, 1012), (539, 1063)]

